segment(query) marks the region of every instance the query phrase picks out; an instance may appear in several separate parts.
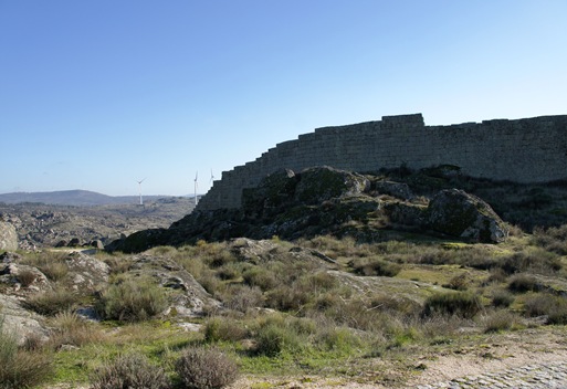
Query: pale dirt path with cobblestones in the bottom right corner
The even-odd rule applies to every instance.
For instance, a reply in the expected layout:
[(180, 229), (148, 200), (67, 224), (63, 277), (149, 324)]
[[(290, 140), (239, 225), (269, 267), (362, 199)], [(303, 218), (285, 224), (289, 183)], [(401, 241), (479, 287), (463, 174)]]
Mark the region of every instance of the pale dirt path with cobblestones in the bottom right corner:
[[(375, 368), (391, 382), (376, 381), (365, 374), (347, 378), (242, 378), (230, 389), (244, 388), (567, 388), (567, 338), (565, 329), (527, 329), (494, 335), (482, 344), (465, 344), (434, 354), (416, 353), (402, 364), (376, 360)], [(408, 366), (417, 367), (408, 369)], [(372, 382), (372, 380), (375, 380)]]

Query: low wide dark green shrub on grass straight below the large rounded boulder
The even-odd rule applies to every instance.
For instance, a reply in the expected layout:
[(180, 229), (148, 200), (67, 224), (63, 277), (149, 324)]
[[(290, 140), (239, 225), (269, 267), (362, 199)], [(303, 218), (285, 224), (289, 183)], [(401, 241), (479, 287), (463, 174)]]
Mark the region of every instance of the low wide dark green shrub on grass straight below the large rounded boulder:
[(423, 315), (441, 314), (471, 318), (481, 309), (481, 299), (475, 294), (468, 292), (437, 293), (426, 301)]

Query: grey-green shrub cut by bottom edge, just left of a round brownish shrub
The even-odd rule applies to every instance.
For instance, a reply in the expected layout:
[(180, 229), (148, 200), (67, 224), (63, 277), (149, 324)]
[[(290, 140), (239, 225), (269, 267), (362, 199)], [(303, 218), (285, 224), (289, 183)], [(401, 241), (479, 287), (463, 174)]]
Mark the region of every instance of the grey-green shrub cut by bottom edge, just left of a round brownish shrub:
[(167, 389), (167, 376), (146, 357), (123, 355), (105, 364), (91, 375), (92, 389)]

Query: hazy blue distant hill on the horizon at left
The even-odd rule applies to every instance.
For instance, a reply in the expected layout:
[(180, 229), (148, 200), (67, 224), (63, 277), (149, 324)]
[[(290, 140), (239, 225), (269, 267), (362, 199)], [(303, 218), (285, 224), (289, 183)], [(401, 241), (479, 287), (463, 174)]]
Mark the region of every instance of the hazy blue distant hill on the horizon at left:
[[(168, 196), (144, 196), (144, 201), (151, 201)], [(106, 206), (138, 203), (138, 196), (107, 196), (88, 190), (60, 190), (53, 192), (12, 192), (0, 195), (0, 202), (14, 204), (38, 202), (57, 206)]]

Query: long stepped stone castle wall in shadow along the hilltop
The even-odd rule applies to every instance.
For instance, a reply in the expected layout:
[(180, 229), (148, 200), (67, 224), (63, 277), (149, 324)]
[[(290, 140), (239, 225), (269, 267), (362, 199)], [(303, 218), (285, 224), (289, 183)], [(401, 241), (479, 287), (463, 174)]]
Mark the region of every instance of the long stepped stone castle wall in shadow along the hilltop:
[(366, 172), (401, 165), (454, 165), (469, 176), (517, 182), (567, 179), (567, 115), (426, 126), (421, 114), (414, 114), (318, 128), (224, 171), (197, 209), (239, 208), (243, 188), (281, 168), (332, 166)]

